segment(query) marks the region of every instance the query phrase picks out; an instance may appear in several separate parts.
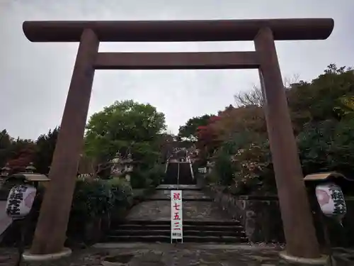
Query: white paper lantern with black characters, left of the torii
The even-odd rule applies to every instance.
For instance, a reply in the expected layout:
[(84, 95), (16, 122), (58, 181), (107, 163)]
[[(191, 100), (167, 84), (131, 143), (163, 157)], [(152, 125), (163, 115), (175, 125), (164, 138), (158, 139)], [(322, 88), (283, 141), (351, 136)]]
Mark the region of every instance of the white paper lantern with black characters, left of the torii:
[(13, 219), (21, 219), (30, 213), (37, 189), (24, 184), (15, 186), (8, 194), (6, 214)]

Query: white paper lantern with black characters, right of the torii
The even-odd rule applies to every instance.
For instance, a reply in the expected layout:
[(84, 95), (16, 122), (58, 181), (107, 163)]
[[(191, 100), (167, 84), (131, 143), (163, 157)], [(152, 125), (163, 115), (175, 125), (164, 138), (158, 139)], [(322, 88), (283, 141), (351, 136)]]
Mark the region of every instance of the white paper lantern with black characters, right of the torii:
[(346, 201), (341, 187), (334, 183), (316, 186), (316, 197), (324, 215), (340, 221), (346, 215)]

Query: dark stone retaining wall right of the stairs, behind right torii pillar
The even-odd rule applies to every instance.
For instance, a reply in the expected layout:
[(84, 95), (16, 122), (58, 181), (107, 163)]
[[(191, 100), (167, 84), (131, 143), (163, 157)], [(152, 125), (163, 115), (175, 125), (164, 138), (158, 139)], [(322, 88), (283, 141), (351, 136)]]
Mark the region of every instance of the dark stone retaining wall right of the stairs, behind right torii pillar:
[[(251, 242), (285, 242), (278, 196), (235, 196), (225, 192), (222, 187), (210, 187), (202, 182), (199, 184), (229, 216), (241, 222)], [(346, 204), (347, 214), (343, 218), (343, 227), (329, 218), (325, 219), (333, 246), (354, 246), (354, 198), (346, 198)], [(314, 201), (311, 201), (311, 205), (317, 237), (321, 245), (324, 245), (321, 218), (319, 212), (315, 211)]]

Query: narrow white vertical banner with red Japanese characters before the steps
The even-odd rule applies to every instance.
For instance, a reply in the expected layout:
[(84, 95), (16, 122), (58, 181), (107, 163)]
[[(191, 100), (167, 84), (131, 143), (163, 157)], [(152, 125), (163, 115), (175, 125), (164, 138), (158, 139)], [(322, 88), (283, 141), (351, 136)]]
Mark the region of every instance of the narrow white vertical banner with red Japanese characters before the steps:
[(182, 190), (171, 190), (171, 240), (183, 239)]

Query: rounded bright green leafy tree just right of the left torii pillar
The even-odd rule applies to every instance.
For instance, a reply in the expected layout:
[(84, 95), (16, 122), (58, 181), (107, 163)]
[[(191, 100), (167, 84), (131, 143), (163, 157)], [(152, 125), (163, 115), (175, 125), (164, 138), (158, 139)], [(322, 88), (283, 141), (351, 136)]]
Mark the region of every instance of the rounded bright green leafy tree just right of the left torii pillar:
[(118, 151), (151, 165), (159, 156), (160, 133), (166, 129), (164, 113), (150, 104), (115, 101), (94, 113), (86, 126), (86, 154), (105, 162)]

